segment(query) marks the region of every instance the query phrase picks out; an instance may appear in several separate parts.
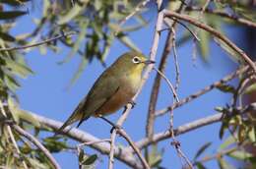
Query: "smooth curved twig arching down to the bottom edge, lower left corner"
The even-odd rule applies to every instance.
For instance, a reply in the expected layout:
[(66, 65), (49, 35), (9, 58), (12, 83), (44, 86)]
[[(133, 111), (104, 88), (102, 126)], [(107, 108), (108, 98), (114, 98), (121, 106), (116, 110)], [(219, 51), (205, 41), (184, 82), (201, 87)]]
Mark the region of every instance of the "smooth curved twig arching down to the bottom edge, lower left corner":
[(29, 141), (32, 141), (32, 143), (37, 146), (42, 153), (49, 159), (49, 161), (51, 162), (52, 166), (55, 169), (60, 169), (60, 166), (58, 164), (58, 162), (54, 159), (54, 157), (51, 155), (51, 153), (48, 151), (48, 149), (46, 149), (41, 143), (40, 141), (37, 141), (30, 133), (26, 132), (24, 129), (22, 129), (20, 126), (18, 125), (12, 125), (12, 127), (15, 129), (15, 131), (17, 133), (19, 133), (20, 135), (24, 136), (25, 138), (27, 138)]

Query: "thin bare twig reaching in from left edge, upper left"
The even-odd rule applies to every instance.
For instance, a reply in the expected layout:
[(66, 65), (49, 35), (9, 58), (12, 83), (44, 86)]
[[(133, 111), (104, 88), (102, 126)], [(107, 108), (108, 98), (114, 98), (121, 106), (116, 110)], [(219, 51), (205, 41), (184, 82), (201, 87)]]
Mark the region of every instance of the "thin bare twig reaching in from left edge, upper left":
[(61, 34), (56, 35), (55, 37), (51, 37), (51, 38), (48, 38), (46, 40), (43, 40), (43, 41), (40, 41), (40, 42), (37, 42), (37, 43), (33, 43), (33, 44), (29, 44), (29, 45), (24, 45), (24, 46), (0, 48), (0, 52), (27, 49), (27, 48), (43, 45), (43, 44), (49, 43), (51, 41), (57, 40), (59, 38), (70, 36), (70, 35), (74, 35), (74, 34), (77, 34), (77, 32), (76, 31), (63, 32)]

